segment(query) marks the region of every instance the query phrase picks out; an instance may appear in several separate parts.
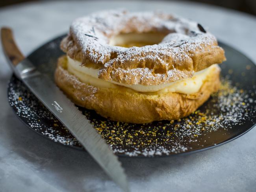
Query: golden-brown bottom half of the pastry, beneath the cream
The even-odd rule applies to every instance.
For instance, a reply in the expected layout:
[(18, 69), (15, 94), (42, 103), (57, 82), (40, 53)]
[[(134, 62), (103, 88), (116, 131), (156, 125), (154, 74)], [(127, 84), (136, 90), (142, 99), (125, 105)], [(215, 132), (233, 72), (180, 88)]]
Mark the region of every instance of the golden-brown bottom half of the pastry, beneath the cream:
[(67, 57), (60, 57), (55, 72), (58, 87), (76, 105), (93, 109), (96, 113), (115, 121), (148, 123), (158, 120), (176, 120), (193, 113), (211, 93), (219, 89), (220, 70), (212, 70), (200, 90), (195, 94), (169, 92), (148, 95), (141, 92), (94, 87), (82, 83), (67, 71)]

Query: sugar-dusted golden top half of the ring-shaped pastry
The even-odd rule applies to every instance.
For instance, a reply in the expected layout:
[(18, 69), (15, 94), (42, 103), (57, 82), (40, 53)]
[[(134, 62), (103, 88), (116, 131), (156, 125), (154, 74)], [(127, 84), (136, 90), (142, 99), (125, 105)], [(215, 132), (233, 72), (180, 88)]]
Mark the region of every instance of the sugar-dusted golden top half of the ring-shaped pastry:
[[(109, 45), (121, 33), (165, 33), (159, 44), (124, 48)], [(108, 11), (74, 20), (61, 49), (98, 78), (128, 85), (159, 85), (191, 78), (225, 60), (216, 38), (196, 22), (164, 13)]]

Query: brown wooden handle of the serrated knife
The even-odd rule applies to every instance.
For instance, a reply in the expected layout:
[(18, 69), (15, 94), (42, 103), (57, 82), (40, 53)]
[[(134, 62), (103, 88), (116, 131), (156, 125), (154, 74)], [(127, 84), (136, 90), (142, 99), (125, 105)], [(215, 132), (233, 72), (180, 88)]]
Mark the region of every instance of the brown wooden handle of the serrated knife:
[(11, 28), (1, 28), (1, 41), (7, 59), (9, 59), (14, 66), (25, 58), (14, 41)]

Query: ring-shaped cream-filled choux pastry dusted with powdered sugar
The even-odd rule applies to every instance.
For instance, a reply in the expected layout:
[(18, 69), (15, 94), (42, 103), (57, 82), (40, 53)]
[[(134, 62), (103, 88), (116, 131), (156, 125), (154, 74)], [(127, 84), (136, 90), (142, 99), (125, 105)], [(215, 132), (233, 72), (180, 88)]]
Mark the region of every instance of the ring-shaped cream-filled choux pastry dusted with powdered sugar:
[(200, 24), (156, 12), (105, 11), (72, 22), (55, 81), (74, 102), (115, 121), (193, 113), (219, 89), (224, 50)]

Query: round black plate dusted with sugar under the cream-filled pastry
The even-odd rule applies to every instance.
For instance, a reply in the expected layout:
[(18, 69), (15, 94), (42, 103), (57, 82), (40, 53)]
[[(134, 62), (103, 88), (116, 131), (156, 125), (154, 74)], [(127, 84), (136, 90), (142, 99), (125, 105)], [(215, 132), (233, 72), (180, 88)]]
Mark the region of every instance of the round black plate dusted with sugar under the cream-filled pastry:
[[(58, 37), (28, 57), (41, 72), (53, 79), (54, 68), (63, 52)], [(150, 124), (113, 122), (80, 108), (95, 128), (124, 156), (158, 156), (206, 150), (233, 140), (256, 123), (256, 66), (245, 55), (220, 43), (227, 61), (221, 65), (223, 86), (198, 111), (176, 121)], [(9, 103), (20, 120), (45, 137), (82, 149), (79, 142), (15, 76), (8, 87)]]

